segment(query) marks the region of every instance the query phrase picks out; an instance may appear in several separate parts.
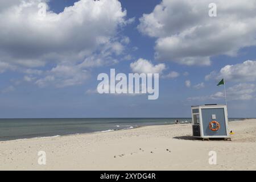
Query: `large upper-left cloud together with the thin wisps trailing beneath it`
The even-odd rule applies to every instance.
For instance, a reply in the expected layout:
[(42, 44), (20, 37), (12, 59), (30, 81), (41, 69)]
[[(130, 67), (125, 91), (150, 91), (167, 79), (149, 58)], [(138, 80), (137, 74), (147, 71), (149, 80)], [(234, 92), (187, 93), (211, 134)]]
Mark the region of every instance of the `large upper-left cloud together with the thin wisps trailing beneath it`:
[(117, 36), (118, 28), (133, 22), (117, 0), (80, 0), (59, 14), (47, 7), (44, 17), (38, 15), (40, 2), (47, 0), (0, 2), (0, 73), (18, 68), (36, 74), (51, 64), (55, 68), (41, 73), (37, 85), (80, 84), (89, 77), (85, 68), (116, 63), (112, 56), (130, 43)]

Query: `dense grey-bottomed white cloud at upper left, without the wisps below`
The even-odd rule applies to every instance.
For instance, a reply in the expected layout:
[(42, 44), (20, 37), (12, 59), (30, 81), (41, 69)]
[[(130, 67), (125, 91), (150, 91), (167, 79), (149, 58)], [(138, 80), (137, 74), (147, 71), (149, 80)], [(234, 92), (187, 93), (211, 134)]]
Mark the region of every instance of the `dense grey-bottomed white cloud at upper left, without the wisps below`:
[[(18, 59), (26, 67), (52, 59), (78, 60), (108, 43), (125, 23), (126, 11), (116, 0), (80, 0), (59, 14), (47, 11), (44, 19), (38, 16), (39, 2), (21, 1), (0, 12), (0, 28), (5, 30), (0, 32), (0, 52), (6, 60)], [(114, 43), (114, 49), (122, 48)]]

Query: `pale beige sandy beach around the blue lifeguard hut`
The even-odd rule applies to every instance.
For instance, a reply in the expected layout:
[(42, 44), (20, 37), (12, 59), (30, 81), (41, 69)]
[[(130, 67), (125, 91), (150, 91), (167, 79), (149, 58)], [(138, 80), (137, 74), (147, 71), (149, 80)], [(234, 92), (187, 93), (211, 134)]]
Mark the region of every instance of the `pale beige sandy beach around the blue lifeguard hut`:
[[(255, 170), (256, 119), (230, 122), (229, 129), (232, 141), (193, 139), (190, 124), (3, 141), (0, 169)], [(46, 165), (38, 164), (38, 151), (46, 152)], [(216, 151), (216, 165), (209, 151)]]

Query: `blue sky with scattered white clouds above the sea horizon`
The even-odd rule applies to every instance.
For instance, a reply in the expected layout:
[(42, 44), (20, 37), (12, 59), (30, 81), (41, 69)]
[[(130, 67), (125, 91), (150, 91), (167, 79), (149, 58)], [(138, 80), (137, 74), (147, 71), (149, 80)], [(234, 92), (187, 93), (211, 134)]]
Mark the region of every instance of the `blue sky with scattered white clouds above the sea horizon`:
[[(225, 104), (222, 78), (229, 117), (256, 117), (255, 12), (254, 0), (1, 1), (0, 117), (191, 117)], [(97, 93), (112, 68), (159, 73), (159, 98)]]

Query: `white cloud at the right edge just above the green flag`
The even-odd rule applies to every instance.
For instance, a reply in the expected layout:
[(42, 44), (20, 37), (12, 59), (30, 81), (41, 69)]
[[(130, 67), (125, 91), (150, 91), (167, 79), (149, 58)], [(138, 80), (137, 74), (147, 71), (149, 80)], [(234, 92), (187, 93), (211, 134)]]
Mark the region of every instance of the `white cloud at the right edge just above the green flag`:
[(226, 65), (220, 72), (211, 72), (205, 76), (205, 80), (225, 78), (229, 81), (255, 81), (256, 80), (256, 61), (247, 60), (241, 64)]

